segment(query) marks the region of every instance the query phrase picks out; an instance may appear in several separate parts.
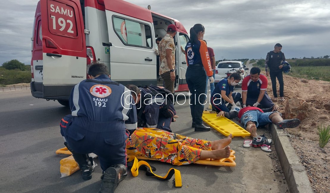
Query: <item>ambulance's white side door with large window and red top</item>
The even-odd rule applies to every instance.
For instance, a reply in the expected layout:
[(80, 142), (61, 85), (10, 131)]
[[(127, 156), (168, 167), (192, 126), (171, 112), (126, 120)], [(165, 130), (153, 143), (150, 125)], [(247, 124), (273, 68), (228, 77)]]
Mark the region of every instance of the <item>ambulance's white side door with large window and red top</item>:
[(103, 3), (111, 43), (111, 79), (123, 85), (156, 85), (155, 34), (150, 10), (121, 0)]

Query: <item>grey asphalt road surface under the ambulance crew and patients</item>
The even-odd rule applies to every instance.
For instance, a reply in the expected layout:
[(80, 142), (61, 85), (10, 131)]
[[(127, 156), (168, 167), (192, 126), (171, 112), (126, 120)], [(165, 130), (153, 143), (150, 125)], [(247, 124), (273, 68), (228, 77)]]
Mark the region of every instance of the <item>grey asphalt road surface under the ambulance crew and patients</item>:
[[(184, 97), (178, 97), (184, 102)], [(212, 129), (194, 132), (188, 101), (176, 104), (179, 115), (171, 124), (173, 132), (193, 138), (218, 140), (223, 135)], [(205, 109), (207, 105), (205, 105)], [(96, 166), (91, 180), (84, 181), (80, 172), (60, 178), (59, 161), (67, 155), (56, 155), (64, 147), (59, 123), (70, 114), (57, 101), (31, 96), (30, 90), (0, 92), (0, 192), (97, 192), (101, 181), (100, 166)], [(261, 130), (259, 133), (266, 132)], [(198, 164), (172, 166), (148, 161), (158, 175), (165, 175), (171, 167), (181, 171), (182, 187), (168, 181), (130, 173), (116, 192), (286, 192), (283, 175), (273, 172), (275, 160), (260, 148), (243, 148), (243, 138), (235, 137), (230, 145), (236, 151), (236, 167), (216, 167)], [(273, 151), (272, 153), (275, 153)], [(96, 159), (98, 163), (98, 159)], [(274, 181), (276, 180), (276, 181)], [(281, 181), (281, 182), (280, 182)]]

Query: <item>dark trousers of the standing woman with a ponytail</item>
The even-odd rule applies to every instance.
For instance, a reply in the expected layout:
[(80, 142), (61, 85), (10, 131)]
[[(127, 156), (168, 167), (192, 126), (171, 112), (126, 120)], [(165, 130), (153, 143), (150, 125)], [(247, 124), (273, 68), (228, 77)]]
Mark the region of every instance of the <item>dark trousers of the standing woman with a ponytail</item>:
[(206, 99), (206, 71), (204, 67), (188, 66), (186, 71), (186, 81), (190, 91), (190, 113), (192, 122), (195, 124), (202, 124), (202, 114), (204, 110), (204, 101)]

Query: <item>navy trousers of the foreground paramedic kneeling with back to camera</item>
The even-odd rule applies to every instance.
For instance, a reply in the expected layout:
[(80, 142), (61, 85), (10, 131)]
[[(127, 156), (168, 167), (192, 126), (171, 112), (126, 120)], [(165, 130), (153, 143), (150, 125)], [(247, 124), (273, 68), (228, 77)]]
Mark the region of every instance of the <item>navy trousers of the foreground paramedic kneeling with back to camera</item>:
[(107, 130), (101, 126), (104, 123), (94, 122), (94, 127), (82, 127), (75, 124), (75, 119), (77, 117), (67, 115), (60, 124), (61, 134), (72, 151), (81, 154), (95, 153), (103, 171), (116, 164), (126, 166), (127, 130), (103, 131)]

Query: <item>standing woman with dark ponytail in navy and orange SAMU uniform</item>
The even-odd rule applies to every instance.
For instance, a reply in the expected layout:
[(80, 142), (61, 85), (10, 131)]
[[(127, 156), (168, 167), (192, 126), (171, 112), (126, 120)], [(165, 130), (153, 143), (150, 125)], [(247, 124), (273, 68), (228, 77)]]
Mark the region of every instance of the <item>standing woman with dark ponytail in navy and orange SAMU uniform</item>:
[(194, 127), (195, 131), (209, 131), (211, 129), (211, 127), (204, 125), (202, 121), (203, 103), (206, 99), (206, 77), (209, 77), (210, 83), (214, 82), (210, 56), (206, 43), (202, 41), (204, 33), (204, 26), (202, 24), (195, 24), (190, 28), (190, 39), (185, 46), (188, 65), (185, 76), (191, 93), (191, 127)]

